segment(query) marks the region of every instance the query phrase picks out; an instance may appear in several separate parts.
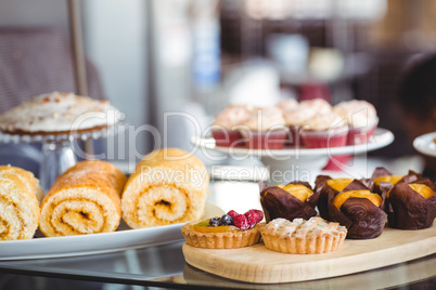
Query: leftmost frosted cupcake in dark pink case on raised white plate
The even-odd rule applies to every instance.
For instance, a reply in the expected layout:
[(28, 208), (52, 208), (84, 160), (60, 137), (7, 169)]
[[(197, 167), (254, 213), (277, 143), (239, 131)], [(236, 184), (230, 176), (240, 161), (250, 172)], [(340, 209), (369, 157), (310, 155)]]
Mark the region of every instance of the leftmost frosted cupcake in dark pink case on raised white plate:
[(239, 147), (243, 146), (239, 126), (249, 118), (251, 107), (245, 105), (230, 105), (215, 116), (211, 126), (211, 136), (217, 146)]

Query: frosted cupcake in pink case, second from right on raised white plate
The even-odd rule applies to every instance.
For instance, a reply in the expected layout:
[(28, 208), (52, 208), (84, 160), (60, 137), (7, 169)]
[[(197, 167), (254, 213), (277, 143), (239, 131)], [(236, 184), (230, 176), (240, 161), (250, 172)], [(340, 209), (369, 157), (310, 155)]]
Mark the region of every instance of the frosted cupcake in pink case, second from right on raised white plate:
[(317, 114), (299, 132), (307, 148), (342, 147), (347, 144), (348, 127), (334, 111)]

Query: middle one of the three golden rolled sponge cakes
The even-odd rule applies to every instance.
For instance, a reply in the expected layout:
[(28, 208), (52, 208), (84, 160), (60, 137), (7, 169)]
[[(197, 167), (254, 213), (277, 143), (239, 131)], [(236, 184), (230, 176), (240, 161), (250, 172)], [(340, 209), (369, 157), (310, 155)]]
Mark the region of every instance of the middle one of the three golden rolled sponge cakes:
[(121, 217), (125, 183), (126, 175), (110, 162), (76, 163), (43, 198), (40, 230), (48, 237), (114, 232)]

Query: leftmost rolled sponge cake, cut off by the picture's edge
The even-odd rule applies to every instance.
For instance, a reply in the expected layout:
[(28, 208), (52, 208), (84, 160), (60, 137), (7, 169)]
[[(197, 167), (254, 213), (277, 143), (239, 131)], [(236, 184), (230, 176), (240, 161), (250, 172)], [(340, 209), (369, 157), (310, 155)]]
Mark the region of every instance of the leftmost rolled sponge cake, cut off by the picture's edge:
[(0, 240), (31, 239), (38, 228), (39, 180), (21, 168), (0, 166)]

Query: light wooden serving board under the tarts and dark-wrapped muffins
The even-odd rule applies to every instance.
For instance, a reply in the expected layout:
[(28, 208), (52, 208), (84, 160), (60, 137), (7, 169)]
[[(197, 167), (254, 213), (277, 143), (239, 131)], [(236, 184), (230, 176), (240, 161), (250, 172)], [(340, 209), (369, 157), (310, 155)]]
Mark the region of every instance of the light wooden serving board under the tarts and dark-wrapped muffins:
[(240, 249), (202, 249), (183, 245), (184, 260), (205, 272), (246, 282), (277, 284), (313, 280), (384, 267), (436, 252), (436, 224), (401, 230), (385, 227), (370, 240), (346, 239), (336, 251), (286, 254), (262, 242)]

